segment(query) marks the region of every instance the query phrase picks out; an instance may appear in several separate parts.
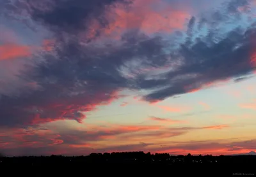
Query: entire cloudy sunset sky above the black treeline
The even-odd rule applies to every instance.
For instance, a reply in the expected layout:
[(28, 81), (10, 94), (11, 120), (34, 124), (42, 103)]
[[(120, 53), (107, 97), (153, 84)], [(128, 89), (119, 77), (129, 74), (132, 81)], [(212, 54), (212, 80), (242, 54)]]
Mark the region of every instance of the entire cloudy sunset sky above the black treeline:
[(0, 153), (256, 150), (255, 0), (1, 0)]

